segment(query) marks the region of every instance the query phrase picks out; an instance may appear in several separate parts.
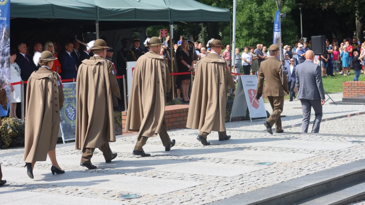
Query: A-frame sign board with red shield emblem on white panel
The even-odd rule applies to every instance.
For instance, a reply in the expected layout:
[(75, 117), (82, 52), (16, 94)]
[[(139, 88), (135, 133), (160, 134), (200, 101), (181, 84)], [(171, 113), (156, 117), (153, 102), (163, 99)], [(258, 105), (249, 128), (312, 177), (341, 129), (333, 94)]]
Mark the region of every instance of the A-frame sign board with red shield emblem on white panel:
[(246, 116), (247, 107), (250, 112), (250, 121), (252, 118), (266, 117), (266, 109), (262, 97), (256, 99), (257, 77), (256, 76), (239, 76), (236, 96), (234, 97), (231, 118)]

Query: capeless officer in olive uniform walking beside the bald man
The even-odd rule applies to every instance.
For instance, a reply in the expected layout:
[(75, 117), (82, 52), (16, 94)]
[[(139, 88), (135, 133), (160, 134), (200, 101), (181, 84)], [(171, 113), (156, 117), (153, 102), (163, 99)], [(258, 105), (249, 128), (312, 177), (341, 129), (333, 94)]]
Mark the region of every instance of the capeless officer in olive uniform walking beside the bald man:
[[(269, 47), (270, 57), (261, 62), (260, 71), (258, 74), (257, 95), (256, 99), (262, 96), (262, 88), (265, 82), (265, 96), (268, 97), (270, 105), (273, 109), (269, 119), (264, 122), (266, 131), (273, 134), (271, 127), (276, 124), (276, 133), (284, 132), (281, 128), (280, 114), (284, 107), (284, 91), (289, 94), (287, 77), (283, 64), (278, 61), (279, 46), (271, 45)], [(285, 75), (285, 76), (284, 76)], [(266, 78), (266, 79), (265, 79)]]

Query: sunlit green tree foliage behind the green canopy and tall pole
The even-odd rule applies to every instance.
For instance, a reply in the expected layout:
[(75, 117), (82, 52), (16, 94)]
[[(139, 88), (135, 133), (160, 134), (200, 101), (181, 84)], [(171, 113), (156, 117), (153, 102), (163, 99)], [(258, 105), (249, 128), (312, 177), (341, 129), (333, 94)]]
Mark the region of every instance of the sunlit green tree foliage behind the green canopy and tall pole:
[[(231, 10), (233, 18), (233, 0), (197, 0), (201, 3)], [(290, 11), (296, 7), (295, 0), (285, 0), (281, 5), (281, 13), (287, 13), (281, 18), (283, 44), (292, 44), (297, 39), (297, 28)], [(273, 24), (277, 6), (274, 0), (237, 0), (236, 15), (236, 47), (241, 50), (245, 46), (255, 46), (258, 43), (271, 45)], [(231, 25), (232, 27), (232, 25)], [(148, 28), (149, 36), (158, 36), (160, 29), (168, 26), (153, 26)], [(177, 23), (174, 24), (174, 39), (183, 35), (187, 39), (207, 42), (210, 38), (221, 39), (224, 45), (230, 43), (229, 22)]]

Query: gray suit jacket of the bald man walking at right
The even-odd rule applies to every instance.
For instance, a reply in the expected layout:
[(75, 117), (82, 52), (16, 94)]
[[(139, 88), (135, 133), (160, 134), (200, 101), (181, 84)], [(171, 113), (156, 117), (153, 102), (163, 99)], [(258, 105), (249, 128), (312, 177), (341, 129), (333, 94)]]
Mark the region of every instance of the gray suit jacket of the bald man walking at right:
[(324, 100), (324, 89), (320, 66), (306, 60), (296, 66), (298, 99)]

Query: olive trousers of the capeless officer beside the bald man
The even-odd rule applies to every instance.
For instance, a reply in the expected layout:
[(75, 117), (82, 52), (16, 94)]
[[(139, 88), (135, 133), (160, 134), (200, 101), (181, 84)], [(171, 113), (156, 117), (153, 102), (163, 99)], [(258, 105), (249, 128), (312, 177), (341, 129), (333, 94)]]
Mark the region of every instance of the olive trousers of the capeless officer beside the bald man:
[(270, 102), (270, 105), (273, 109), (273, 113), (270, 115), (270, 117), (266, 120), (270, 126), (272, 127), (275, 123), (276, 125), (276, 131), (281, 130), (281, 118), (280, 115), (283, 112), (284, 107), (284, 96), (267, 96), (268, 100)]

